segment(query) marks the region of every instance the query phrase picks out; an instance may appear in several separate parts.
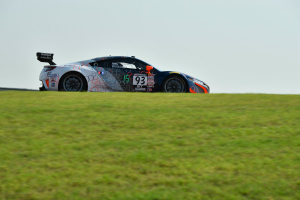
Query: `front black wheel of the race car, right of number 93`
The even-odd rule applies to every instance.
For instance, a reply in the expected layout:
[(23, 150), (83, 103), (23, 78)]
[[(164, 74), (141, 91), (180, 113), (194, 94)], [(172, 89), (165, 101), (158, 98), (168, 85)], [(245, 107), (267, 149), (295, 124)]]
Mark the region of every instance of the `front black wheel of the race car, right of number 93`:
[(169, 76), (161, 84), (161, 91), (164, 92), (187, 92), (185, 81), (179, 76)]

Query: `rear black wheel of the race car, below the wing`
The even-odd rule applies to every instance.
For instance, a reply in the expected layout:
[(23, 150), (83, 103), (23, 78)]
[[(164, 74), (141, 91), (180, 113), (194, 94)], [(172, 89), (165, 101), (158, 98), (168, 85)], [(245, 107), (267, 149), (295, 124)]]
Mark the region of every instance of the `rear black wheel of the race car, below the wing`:
[(64, 74), (58, 84), (59, 91), (86, 91), (87, 82), (84, 76), (78, 72), (68, 72)]

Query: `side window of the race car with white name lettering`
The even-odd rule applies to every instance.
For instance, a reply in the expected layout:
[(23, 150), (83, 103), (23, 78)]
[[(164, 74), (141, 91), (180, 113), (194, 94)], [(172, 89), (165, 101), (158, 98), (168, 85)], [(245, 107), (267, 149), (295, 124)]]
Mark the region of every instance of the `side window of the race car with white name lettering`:
[(111, 59), (111, 68), (130, 68), (145, 70), (146, 65), (134, 59)]

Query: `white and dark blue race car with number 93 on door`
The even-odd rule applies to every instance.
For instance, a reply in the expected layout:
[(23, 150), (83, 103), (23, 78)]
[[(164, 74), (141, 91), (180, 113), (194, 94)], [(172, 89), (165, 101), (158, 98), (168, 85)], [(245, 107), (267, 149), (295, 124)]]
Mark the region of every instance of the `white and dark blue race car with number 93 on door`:
[(105, 56), (55, 64), (53, 53), (36, 53), (48, 62), (39, 74), (50, 91), (143, 91), (209, 93), (209, 86), (178, 71), (161, 71), (134, 56)]

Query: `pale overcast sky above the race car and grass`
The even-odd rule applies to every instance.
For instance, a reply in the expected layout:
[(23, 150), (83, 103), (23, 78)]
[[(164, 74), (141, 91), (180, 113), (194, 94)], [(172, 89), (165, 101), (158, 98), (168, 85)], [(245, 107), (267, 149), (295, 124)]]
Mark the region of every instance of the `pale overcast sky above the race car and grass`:
[(212, 93), (300, 93), (300, 0), (0, 0), (0, 87), (46, 63), (135, 55)]

